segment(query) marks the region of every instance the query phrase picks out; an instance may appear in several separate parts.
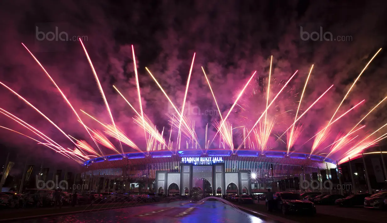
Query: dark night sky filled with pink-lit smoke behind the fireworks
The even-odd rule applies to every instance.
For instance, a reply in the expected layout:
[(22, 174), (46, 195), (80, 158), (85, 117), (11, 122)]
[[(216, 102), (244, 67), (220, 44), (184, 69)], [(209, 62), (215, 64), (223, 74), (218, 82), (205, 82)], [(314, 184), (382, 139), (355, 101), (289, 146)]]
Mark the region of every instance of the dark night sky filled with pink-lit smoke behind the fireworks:
[[(82, 46), (79, 41), (72, 41), (74, 36), (74, 40), (80, 36), (96, 68), (116, 125), (144, 148), (143, 130), (132, 121), (134, 112), (112, 87), (121, 89), (139, 108), (131, 45), (136, 53), (144, 112), (159, 131), (168, 127), (165, 114), (170, 113), (171, 107), (145, 67), (152, 71), (171, 100), (181, 107), (190, 64), (196, 53), (187, 95), (189, 108), (186, 109), (216, 110), (200, 68), (203, 66), (223, 114), (228, 112), (242, 87), (257, 71), (254, 84), (240, 101), (248, 111), (236, 107), (230, 116), (233, 126), (240, 126), (246, 122), (240, 115), (254, 123), (257, 114), (262, 114), (262, 108), (265, 109), (265, 103), (261, 103), (265, 102), (262, 92), (257, 99), (250, 93), (254, 86), (265, 89), (272, 55), (274, 92), (298, 70), (288, 90), (276, 102), (276, 110), (272, 111), (278, 122), (274, 131), (282, 134), (295, 115), (295, 111), (287, 111), (296, 109), (298, 93), (314, 64), (301, 111), (330, 85), (334, 84), (334, 87), (301, 119), (304, 130), (295, 148), (307, 152), (312, 144), (303, 143), (329, 121), (354, 79), (379, 48), (383, 48), (382, 51), (358, 80), (338, 114), (363, 99), (365, 102), (332, 127), (329, 142), (322, 148), (332, 143), (340, 132), (351, 129), (387, 95), (386, 6), (385, 1), (2, 1), (0, 82), (25, 97), (65, 133), (93, 145), (58, 90), (21, 44), (24, 43), (45, 66), (77, 111), (82, 109), (110, 123)], [(42, 37), (39, 33), (55, 33), (56, 27), (58, 33), (65, 32), (70, 40), (39, 41)], [(305, 40), (307, 34), (301, 37), (301, 29), (323, 35), (330, 32), (332, 41), (322, 37), (315, 41)], [(330, 40), (329, 35), (324, 37)], [(73, 146), (38, 112), (3, 86), (0, 86), (0, 95), (2, 109), (38, 128), (60, 145)], [(385, 108), (382, 104), (362, 123), (366, 127), (359, 137), (387, 122)], [(83, 114), (81, 117), (90, 128), (100, 129), (95, 121)], [(195, 120), (202, 144), (207, 123), (210, 123), (210, 138), (213, 137), (216, 129), (211, 123), (219, 116), (188, 114), (188, 117)], [(33, 136), (3, 114), (0, 114), (0, 125)], [(381, 133), (385, 133), (385, 129)], [(238, 145), (240, 140), (238, 134), (235, 135)], [(168, 136), (165, 130), (164, 137)], [(118, 146), (115, 140), (111, 141)], [(284, 144), (274, 143), (274, 136), (271, 141), (274, 148), (285, 148)], [(27, 156), (36, 163), (45, 160), (46, 163), (77, 165), (9, 130), (0, 129), (0, 143), (0, 162), (10, 151), (19, 165)], [(126, 147), (125, 151), (133, 150)]]

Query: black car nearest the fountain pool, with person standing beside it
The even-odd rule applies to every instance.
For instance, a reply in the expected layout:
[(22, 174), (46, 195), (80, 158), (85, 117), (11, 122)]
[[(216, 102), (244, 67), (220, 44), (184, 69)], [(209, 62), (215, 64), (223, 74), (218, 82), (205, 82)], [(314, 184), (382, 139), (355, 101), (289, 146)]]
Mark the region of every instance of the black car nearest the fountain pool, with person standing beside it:
[(314, 204), (307, 199), (304, 199), (300, 194), (291, 192), (277, 192), (273, 195), (271, 207), (266, 200), (266, 208), (281, 210), (283, 214), (288, 213), (305, 213), (315, 214), (316, 208)]

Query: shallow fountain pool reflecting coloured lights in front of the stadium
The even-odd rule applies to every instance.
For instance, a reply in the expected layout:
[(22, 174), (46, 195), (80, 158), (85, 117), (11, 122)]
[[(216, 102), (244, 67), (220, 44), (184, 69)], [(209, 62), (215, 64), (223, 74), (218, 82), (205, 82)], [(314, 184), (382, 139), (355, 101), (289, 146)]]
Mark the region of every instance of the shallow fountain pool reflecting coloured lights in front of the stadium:
[(264, 223), (267, 221), (243, 211), (233, 209), (219, 201), (205, 201), (200, 203), (178, 201), (13, 222)]

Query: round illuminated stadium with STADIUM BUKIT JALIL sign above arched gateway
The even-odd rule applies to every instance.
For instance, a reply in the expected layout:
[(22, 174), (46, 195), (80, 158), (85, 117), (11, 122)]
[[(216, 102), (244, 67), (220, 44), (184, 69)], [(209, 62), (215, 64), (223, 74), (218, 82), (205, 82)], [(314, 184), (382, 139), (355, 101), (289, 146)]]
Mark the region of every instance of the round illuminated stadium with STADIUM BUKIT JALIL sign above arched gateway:
[[(333, 160), (309, 153), (269, 150), (169, 150), (113, 154), (84, 163), (90, 191), (188, 194), (195, 186), (208, 194), (258, 193), (272, 188), (300, 190), (300, 179), (337, 179)], [(324, 160), (325, 158), (325, 160)], [(303, 177), (305, 176), (305, 177)], [(302, 177), (302, 178), (300, 178)]]

